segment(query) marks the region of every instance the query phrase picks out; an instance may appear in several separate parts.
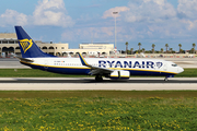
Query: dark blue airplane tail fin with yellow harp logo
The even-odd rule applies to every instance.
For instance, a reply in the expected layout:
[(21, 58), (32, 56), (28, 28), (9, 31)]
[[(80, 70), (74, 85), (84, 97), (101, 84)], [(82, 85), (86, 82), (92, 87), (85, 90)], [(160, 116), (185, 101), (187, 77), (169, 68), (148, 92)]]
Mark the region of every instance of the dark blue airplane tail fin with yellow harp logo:
[(15, 32), (23, 58), (56, 57), (43, 52), (21, 26), (15, 26)]

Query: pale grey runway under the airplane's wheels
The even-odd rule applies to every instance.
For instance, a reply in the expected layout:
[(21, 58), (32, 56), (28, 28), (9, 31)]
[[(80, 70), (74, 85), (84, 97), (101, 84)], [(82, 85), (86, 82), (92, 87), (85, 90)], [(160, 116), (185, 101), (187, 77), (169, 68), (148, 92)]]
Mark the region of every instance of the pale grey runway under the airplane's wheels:
[(197, 90), (197, 78), (130, 78), (129, 81), (94, 78), (0, 78), (0, 91), (158, 91)]

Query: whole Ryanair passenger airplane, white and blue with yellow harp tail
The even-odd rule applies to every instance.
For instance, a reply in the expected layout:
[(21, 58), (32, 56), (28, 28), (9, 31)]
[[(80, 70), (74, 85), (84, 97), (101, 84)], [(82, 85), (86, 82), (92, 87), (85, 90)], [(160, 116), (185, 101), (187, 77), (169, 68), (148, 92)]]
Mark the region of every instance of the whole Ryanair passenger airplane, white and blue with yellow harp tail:
[(171, 61), (155, 59), (83, 58), (80, 53), (79, 58), (59, 58), (43, 52), (21, 26), (15, 26), (15, 32), (22, 53), (20, 62), (33, 69), (95, 75), (95, 81), (102, 81), (102, 76), (121, 80), (131, 75), (165, 76), (164, 81), (167, 81), (184, 71)]

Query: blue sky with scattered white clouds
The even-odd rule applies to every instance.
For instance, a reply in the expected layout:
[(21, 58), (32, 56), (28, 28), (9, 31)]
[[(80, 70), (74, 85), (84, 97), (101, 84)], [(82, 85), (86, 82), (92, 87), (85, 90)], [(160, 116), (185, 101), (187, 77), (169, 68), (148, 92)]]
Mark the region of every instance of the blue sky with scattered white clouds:
[[(2, 0), (0, 33), (21, 25), (34, 40), (115, 44), (117, 49), (197, 45), (197, 0)], [(113, 14), (118, 12), (118, 14)]]

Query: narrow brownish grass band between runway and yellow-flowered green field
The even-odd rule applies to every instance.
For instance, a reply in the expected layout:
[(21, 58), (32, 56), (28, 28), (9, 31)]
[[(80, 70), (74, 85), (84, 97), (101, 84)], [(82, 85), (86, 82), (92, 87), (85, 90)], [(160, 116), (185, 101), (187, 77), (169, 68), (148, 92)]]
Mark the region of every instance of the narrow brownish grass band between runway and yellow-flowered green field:
[(0, 98), (184, 98), (197, 97), (197, 91), (0, 91)]

